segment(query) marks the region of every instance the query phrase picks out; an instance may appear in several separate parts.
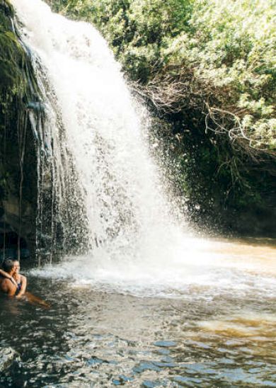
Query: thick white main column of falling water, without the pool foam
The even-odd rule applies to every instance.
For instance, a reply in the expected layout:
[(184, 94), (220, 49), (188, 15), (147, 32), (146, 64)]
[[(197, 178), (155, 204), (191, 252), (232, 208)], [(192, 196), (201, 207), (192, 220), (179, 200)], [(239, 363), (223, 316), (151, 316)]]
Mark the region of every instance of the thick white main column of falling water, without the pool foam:
[[(55, 15), (40, 1), (14, 1), (14, 5), (25, 43), (43, 65), (43, 76), (57, 96), (66, 135), (57, 139), (54, 97), (48, 88), (44, 95), (51, 108), (48, 132), (54, 145), (48, 139), (47, 149), (54, 153), (57, 171), (62, 171), (60, 149), (67, 142), (85, 201), (88, 245), (109, 246), (111, 256), (116, 250), (122, 256), (123, 249), (127, 256), (144, 257), (149, 254), (146, 249), (164, 245), (176, 229), (118, 64), (91, 25)], [(41, 69), (36, 68), (42, 79)], [(44, 84), (40, 81), (42, 89)], [(54, 179), (62, 177), (56, 173)], [(164, 246), (159, 253), (163, 250)]]

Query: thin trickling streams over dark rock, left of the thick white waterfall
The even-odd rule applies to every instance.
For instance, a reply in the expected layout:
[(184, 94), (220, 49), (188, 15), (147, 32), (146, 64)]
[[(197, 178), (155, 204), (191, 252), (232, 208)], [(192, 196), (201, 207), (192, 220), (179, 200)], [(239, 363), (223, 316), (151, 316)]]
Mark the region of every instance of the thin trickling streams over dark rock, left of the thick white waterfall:
[(28, 91), (25, 105), (22, 101), (23, 114), (18, 130), (21, 161), (19, 212), (21, 213), (23, 169), (27, 167), (24, 166), (24, 152), (29, 120), (37, 150), (37, 257), (40, 263), (42, 256), (50, 256), (51, 262), (52, 253), (69, 252), (73, 247), (74, 251), (81, 251), (87, 246), (86, 215), (81, 201), (81, 186), (67, 147), (66, 131), (57, 104), (57, 96), (47, 79), (45, 67), (42, 66), (37, 52), (26, 44), (24, 38), (21, 39), (21, 28), (18, 23), (15, 20), (11, 22), (13, 32), (27, 56), (24, 69)]

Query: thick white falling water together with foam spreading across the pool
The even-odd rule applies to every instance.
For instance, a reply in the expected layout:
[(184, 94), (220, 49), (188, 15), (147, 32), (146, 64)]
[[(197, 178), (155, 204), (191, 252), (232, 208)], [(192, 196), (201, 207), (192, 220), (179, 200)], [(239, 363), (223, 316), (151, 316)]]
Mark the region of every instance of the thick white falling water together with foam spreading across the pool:
[(270, 294), (272, 278), (259, 275), (260, 266), (236, 270), (229, 253), (214, 251), (217, 243), (188, 236), (173, 220), (147, 153), (146, 122), (97, 30), (52, 13), (40, 0), (12, 3), (57, 96), (91, 246), (85, 257), (35, 273), (135, 295), (177, 295), (187, 287), (212, 288), (215, 295), (233, 285)]

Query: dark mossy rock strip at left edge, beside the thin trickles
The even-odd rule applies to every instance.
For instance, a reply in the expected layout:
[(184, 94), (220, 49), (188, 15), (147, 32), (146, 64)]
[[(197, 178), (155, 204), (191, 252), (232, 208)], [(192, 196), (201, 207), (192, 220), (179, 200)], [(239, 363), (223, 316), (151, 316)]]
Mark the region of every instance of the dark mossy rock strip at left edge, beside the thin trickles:
[(6, 248), (15, 256), (19, 241), (35, 247), (37, 156), (27, 107), (38, 89), (31, 74), (13, 8), (0, 0), (0, 255)]

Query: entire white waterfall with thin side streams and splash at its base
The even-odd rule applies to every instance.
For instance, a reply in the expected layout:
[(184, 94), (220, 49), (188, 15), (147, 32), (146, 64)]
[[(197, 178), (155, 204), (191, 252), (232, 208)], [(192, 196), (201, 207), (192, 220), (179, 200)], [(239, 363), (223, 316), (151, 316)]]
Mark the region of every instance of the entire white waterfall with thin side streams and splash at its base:
[(82, 235), (86, 244), (67, 275), (81, 271), (84, 278), (85, 266), (90, 280), (125, 273), (123, 281), (131, 281), (146, 268), (151, 281), (159, 273), (175, 282), (183, 261), (188, 273), (195, 244), (205, 244), (191, 243), (171, 215), (173, 202), (149, 156), (149, 118), (107, 43), (92, 25), (54, 14), (40, 0), (12, 2), (46, 101), (52, 217), (64, 226), (65, 245), (75, 236), (78, 246)]

